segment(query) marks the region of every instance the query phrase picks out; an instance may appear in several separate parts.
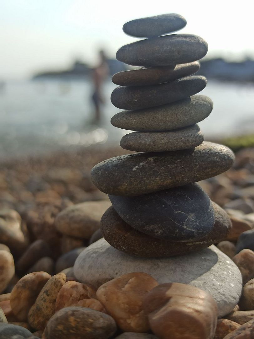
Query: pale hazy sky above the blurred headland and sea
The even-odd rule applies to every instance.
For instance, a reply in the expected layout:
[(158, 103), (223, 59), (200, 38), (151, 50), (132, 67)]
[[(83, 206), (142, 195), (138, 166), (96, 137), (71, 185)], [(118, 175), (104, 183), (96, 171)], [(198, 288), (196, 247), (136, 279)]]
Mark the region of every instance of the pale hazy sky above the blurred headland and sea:
[(254, 58), (250, 0), (0, 0), (0, 80), (66, 69), (75, 59), (94, 65), (100, 48), (114, 57), (137, 40), (123, 33), (126, 21), (164, 13), (183, 15), (179, 33), (203, 37), (208, 57)]

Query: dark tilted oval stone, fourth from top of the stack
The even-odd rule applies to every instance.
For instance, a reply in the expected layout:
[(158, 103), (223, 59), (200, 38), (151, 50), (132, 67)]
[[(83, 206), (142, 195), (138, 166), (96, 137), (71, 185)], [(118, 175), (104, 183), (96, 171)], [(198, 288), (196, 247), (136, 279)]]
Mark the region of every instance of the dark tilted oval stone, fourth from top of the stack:
[(201, 75), (166, 82), (156, 86), (120, 86), (111, 94), (111, 102), (120, 109), (142, 109), (188, 98), (205, 88), (207, 80)]

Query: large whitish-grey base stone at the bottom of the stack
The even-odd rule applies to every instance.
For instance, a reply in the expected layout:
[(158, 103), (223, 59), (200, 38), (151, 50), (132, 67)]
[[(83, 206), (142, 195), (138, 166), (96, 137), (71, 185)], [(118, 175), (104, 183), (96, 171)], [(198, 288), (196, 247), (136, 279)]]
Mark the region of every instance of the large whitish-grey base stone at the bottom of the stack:
[(144, 259), (120, 252), (100, 239), (87, 247), (74, 265), (78, 280), (96, 287), (137, 271), (159, 283), (181, 282), (210, 293), (217, 302), (219, 317), (232, 311), (241, 294), (242, 278), (237, 266), (213, 245), (183, 256)]

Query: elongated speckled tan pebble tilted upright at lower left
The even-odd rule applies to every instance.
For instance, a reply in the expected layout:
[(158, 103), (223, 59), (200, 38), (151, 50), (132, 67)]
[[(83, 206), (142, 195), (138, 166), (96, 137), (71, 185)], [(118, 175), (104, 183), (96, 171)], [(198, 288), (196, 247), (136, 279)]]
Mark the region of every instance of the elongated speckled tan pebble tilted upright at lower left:
[(46, 282), (28, 313), (28, 323), (32, 328), (44, 329), (48, 320), (55, 313), (56, 297), (65, 282), (66, 275), (64, 273), (56, 274)]

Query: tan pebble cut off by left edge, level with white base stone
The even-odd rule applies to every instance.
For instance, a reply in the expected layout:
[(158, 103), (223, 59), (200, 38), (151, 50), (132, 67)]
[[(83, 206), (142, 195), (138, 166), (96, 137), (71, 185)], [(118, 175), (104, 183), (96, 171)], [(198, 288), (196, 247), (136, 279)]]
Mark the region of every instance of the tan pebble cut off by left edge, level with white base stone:
[(14, 259), (11, 253), (0, 250), (0, 293), (2, 293), (15, 274)]

